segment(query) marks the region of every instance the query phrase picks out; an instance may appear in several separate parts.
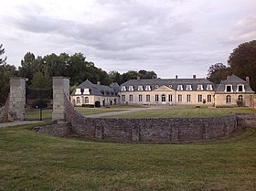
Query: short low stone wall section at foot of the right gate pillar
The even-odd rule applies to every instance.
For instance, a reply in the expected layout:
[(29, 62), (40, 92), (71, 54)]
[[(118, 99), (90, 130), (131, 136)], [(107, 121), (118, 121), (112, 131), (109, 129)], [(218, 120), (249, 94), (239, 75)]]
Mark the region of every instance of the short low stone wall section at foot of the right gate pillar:
[(69, 122), (59, 122), (52, 125), (35, 127), (34, 131), (42, 134), (50, 134), (59, 137), (68, 137), (72, 134)]

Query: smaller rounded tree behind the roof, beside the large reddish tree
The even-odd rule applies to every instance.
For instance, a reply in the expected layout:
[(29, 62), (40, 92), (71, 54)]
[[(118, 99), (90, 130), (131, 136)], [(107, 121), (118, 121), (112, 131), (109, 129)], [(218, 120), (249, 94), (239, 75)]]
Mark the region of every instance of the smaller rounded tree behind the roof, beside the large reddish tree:
[(226, 80), (231, 74), (232, 70), (229, 67), (222, 63), (216, 63), (209, 67), (207, 78), (213, 83), (220, 83), (221, 80)]

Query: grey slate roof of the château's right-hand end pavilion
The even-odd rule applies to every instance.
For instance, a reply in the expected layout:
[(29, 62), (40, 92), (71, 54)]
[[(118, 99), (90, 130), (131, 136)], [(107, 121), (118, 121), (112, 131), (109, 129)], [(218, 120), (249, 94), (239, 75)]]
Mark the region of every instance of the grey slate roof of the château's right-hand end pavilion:
[(216, 90), (217, 93), (223, 93), (225, 90), (226, 85), (232, 85), (233, 90), (237, 90), (238, 85), (244, 85), (245, 92), (248, 93), (254, 93), (253, 90), (251, 90), (250, 85), (247, 81), (241, 80), (236, 75), (231, 75), (227, 80), (221, 80), (218, 89)]

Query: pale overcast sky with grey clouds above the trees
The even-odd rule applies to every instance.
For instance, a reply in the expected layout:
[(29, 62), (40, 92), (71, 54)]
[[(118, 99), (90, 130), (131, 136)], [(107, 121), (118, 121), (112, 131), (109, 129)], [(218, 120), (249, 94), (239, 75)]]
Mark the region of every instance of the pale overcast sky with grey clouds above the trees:
[(240, 43), (256, 39), (255, 0), (5, 0), (0, 44), (19, 66), (36, 56), (82, 52), (96, 67), (205, 78)]

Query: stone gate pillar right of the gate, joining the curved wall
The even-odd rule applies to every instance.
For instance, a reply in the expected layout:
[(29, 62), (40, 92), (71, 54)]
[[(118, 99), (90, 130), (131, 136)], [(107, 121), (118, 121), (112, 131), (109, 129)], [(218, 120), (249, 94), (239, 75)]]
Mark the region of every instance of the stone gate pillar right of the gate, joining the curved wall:
[(69, 100), (69, 78), (52, 77), (52, 85), (52, 121), (65, 121), (65, 99), (67, 98)]

